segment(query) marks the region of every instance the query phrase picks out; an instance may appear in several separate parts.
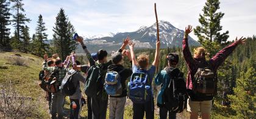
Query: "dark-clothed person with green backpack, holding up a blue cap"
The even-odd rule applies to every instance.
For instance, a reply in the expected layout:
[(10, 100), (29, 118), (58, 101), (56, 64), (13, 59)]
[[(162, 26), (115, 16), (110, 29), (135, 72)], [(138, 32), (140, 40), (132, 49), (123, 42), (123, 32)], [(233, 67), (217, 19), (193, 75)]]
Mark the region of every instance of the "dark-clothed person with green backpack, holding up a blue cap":
[[(127, 37), (121, 48), (118, 52), (122, 53), (125, 47), (129, 42), (129, 38)], [(105, 119), (107, 115), (107, 103), (108, 103), (108, 95), (104, 90), (104, 83), (105, 83), (105, 75), (107, 73), (107, 67), (112, 64), (112, 60), (107, 61), (107, 51), (106, 50), (99, 50), (97, 53), (98, 61), (94, 61), (93, 57), (91, 56), (90, 52), (88, 51), (87, 47), (83, 42), (83, 38), (77, 36), (76, 41), (80, 42), (82, 48), (84, 49), (90, 66), (97, 66), (101, 68), (100, 78), (99, 79), (99, 86), (97, 90), (97, 96), (91, 97), (91, 110), (92, 110), (92, 118), (93, 119)]]

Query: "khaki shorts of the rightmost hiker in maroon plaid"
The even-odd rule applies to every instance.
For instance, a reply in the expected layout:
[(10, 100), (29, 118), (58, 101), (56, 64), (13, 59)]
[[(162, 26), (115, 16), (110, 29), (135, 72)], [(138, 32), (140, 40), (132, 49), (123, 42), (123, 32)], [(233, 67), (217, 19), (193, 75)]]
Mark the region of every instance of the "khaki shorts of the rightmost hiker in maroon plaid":
[(210, 114), (212, 110), (212, 100), (191, 101), (190, 98), (188, 98), (188, 104), (187, 104), (188, 112), (198, 113), (199, 109), (201, 113)]

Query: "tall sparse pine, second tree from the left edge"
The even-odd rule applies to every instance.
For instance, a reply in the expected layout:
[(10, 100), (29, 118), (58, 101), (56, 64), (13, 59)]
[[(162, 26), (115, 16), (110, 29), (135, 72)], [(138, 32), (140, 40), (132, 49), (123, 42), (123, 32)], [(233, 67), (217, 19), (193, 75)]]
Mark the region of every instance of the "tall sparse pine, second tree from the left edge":
[(10, 0), (13, 2), (12, 9), (15, 12), (13, 14), (13, 26), (15, 27), (16, 33), (15, 35), (16, 38), (18, 38), (18, 41), (21, 41), (21, 27), (26, 27), (25, 24), (26, 22), (30, 22), (29, 18), (26, 18), (26, 14), (24, 14), (25, 10), (23, 9), (23, 0)]

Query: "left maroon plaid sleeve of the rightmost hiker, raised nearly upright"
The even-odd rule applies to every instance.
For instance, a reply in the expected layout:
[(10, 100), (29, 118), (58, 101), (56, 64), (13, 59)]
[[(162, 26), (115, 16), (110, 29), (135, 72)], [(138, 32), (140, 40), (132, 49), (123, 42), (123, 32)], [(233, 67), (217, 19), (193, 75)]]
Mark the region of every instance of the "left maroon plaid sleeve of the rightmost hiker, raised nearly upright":
[(182, 52), (185, 58), (185, 61), (188, 65), (188, 69), (191, 70), (194, 66), (194, 58), (191, 55), (190, 48), (188, 47), (188, 38), (184, 38), (182, 41)]

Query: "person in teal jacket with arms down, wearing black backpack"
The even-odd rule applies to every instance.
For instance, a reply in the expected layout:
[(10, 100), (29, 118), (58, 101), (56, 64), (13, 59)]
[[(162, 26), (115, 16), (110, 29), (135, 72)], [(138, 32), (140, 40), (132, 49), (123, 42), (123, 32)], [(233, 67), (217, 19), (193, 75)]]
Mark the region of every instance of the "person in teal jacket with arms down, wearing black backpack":
[(168, 60), (168, 66), (165, 67), (165, 69), (161, 70), (161, 72), (158, 73), (157, 76), (155, 77), (155, 84), (157, 86), (161, 85), (161, 90), (159, 91), (158, 97), (157, 97), (157, 106), (160, 107), (160, 110), (159, 110), (160, 119), (166, 119), (168, 112), (169, 112), (169, 119), (175, 119), (176, 113), (166, 109), (165, 105), (163, 104), (162, 96), (166, 87), (168, 87), (171, 81), (171, 78), (169, 77), (168, 73), (170, 73), (171, 75), (181, 74), (180, 70), (176, 68), (177, 64), (179, 63), (179, 55), (177, 55), (176, 53), (169, 53), (167, 56), (167, 60)]

